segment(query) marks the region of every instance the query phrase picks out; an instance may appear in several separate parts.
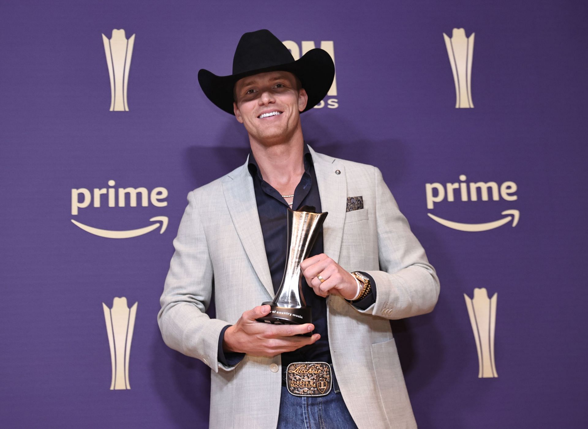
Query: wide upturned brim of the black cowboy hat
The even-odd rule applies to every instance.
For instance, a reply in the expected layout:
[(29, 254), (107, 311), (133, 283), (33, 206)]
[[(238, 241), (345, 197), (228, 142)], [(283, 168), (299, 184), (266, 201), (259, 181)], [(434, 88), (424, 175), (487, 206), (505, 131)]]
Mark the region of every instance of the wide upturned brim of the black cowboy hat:
[(284, 64), (273, 65), (265, 68), (250, 70), (229, 76), (217, 76), (208, 70), (201, 69), (198, 72), (198, 82), (206, 97), (218, 108), (235, 115), (233, 111), (233, 88), (239, 79), (258, 73), (284, 71), (298, 76), (302, 88), (308, 94), (306, 110), (312, 109), (320, 100), (325, 98), (335, 78), (335, 64), (330, 55), (323, 49), (315, 48), (306, 52), (302, 58)]

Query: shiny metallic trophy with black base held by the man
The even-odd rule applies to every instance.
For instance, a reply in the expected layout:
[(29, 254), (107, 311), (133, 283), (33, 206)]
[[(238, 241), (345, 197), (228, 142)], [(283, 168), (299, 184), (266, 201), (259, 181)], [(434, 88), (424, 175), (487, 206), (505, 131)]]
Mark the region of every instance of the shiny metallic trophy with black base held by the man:
[(288, 209), (288, 249), (284, 276), (273, 301), (262, 304), (267, 304), (272, 309), (267, 316), (257, 319), (258, 321), (275, 324), (312, 323), (310, 307), (306, 306), (302, 294), (300, 262), (308, 257), (319, 235), (320, 227), (329, 213), (315, 213), (315, 207), (310, 206), (301, 209)]

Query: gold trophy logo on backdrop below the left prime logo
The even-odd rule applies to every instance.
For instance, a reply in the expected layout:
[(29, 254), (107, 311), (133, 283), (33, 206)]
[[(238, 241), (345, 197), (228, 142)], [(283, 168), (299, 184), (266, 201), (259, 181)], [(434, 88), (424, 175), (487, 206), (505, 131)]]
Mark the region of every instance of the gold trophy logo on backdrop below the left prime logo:
[(131, 341), (135, 328), (137, 304), (129, 309), (126, 298), (115, 297), (112, 309), (102, 303), (106, 333), (111, 352), (112, 380), (110, 390), (127, 390), (129, 383), (129, 357), (131, 356)]

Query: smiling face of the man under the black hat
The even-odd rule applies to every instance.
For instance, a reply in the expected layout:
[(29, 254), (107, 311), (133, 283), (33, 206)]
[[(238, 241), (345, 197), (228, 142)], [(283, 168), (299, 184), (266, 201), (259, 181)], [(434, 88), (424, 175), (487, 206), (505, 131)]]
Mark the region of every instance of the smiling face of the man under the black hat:
[(298, 88), (289, 72), (267, 72), (247, 76), (235, 83), (233, 109), (237, 120), (245, 125), (249, 139), (264, 146), (302, 136), (300, 112), (308, 96)]

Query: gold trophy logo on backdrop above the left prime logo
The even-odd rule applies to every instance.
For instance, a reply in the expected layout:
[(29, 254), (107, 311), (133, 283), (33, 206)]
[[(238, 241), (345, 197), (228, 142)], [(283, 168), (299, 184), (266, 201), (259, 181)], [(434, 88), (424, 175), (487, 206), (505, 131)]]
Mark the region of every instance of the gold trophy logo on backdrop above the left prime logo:
[(108, 75), (111, 80), (111, 112), (128, 112), (129, 103), (126, 98), (126, 88), (129, 83), (129, 69), (133, 56), (135, 35), (128, 39), (123, 29), (112, 30), (111, 38), (102, 35)]

